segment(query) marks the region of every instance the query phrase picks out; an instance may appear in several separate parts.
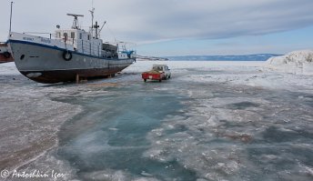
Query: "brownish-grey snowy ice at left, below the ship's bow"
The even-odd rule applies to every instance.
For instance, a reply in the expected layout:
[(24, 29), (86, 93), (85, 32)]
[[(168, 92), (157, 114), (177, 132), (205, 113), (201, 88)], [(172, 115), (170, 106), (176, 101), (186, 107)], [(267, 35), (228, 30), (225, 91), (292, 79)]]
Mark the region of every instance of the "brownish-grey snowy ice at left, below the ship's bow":
[(34, 84), (15, 74), (14, 63), (0, 70), (0, 170), (12, 170), (57, 146), (59, 128), (81, 108), (52, 100), (65, 89)]

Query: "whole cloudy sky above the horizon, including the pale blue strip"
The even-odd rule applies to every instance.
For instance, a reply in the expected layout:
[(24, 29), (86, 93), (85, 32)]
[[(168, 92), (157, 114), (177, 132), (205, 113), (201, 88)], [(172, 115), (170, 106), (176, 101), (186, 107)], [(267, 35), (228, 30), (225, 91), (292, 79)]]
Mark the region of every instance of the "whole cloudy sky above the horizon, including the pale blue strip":
[[(9, 30), (10, 2), (0, 0), (0, 41)], [(14, 0), (12, 31), (53, 33), (88, 10), (105, 41), (136, 44), (138, 55), (287, 54), (313, 49), (312, 0)]]

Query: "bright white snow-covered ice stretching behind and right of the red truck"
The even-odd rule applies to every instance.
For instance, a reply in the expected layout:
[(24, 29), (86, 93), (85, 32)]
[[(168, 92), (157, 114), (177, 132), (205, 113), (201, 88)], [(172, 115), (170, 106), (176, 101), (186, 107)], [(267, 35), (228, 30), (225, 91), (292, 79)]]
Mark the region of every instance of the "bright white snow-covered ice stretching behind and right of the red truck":
[[(268, 60), (269, 61), (269, 60)], [(140, 63), (140, 64), (139, 64)], [(268, 62), (254, 61), (167, 61), (139, 62), (126, 68), (127, 74), (140, 74), (154, 64), (167, 64), (176, 79), (198, 83), (217, 82), (231, 85), (249, 85), (259, 88), (287, 89), (312, 93), (311, 75), (291, 75), (268, 67)], [(292, 68), (292, 65), (290, 65)], [(189, 71), (196, 74), (187, 74)], [(313, 71), (311, 71), (313, 72)], [(298, 88), (300, 87), (300, 88)]]

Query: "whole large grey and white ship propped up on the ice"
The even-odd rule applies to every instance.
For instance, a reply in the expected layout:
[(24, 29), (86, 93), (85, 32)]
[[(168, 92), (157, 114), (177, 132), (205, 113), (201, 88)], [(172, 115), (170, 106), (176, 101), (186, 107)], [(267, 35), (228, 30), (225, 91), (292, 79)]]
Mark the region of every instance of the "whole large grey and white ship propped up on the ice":
[(125, 42), (103, 42), (97, 22), (86, 31), (78, 24), (84, 15), (67, 15), (74, 17), (71, 28), (56, 25), (49, 37), (10, 32), (8, 45), (22, 75), (44, 84), (78, 82), (114, 76), (136, 62), (136, 51), (127, 50)]

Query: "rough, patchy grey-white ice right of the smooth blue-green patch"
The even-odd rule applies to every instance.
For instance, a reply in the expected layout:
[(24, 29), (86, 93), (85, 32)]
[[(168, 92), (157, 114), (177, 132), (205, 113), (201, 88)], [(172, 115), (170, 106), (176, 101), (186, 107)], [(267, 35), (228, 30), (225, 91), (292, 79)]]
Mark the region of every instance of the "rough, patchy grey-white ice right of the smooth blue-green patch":
[[(292, 150), (302, 149), (298, 139), (310, 142), (310, 138), (305, 138), (307, 133), (302, 135), (301, 132), (312, 134), (306, 128), (313, 121), (311, 106), (301, 106), (299, 100), (288, 100), (288, 96), (280, 96), (280, 91), (268, 94), (267, 91), (249, 87), (233, 86), (231, 90), (227, 90), (226, 85), (211, 84), (209, 87), (207, 92), (212, 94), (206, 96), (202, 91), (189, 89), (193, 94), (188, 96), (193, 101), (186, 104), (193, 106), (188, 109), (187, 116), (173, 116), (165, 120), (161, 128), (153, 130), (148, 138), (154, 143), (154, 148), (146, 151), (144, 156), (161, 162), (178, 159), (187, 168), (196, 169), (198, 176), (208, 180), (259, 180), (264, 172), (275, 176), (275, 171), (284, 169), (278, 163), (285, 160), (286, 165), (298, 165), (292, 163), (293, 159), (307, 162), (311, 148), (304, 149), (307, 151), (302, 152), (303, 157), (294, 157)], [(220, 89), (223, 93), (219, 92)], [(276, 96), (284, 101), (277, 100)], [(295, 117), (298, 111), (302, 116)], [(262, 160), (264, 163), (258, 164)], [(272, 168), (265, 171), (266, 166)], [(273, 166), (277, 167), (274, 169)], [(275, 171), (270, 173), (271, 169)], [(288, 171), (292, 172), (293, 168)], [(290, 180), (298, 174), (299, 178), (303, 176), (301, 179), (307, 179), (303, 174), (293, 174)], [(264, 179), (275, 180), (272, 176)]]

